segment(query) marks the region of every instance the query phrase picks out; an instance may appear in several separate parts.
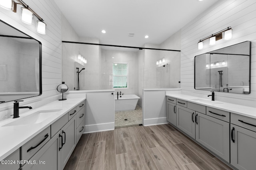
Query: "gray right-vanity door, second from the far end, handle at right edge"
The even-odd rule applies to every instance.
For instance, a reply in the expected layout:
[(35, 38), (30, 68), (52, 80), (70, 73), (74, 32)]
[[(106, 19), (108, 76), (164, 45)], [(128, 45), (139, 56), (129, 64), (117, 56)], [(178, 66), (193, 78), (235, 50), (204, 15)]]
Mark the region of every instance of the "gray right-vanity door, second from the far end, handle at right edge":
[(184, 133), (195, 139), (195, 111), (178, 105), (176, 107), (176, 126)]

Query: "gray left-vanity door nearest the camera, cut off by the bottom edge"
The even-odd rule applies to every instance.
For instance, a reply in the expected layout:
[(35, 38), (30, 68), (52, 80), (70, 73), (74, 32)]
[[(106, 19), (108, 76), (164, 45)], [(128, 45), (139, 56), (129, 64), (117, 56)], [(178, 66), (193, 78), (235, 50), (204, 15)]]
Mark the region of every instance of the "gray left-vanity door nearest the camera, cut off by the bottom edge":
[(60, 170), (60, 131), (48, 141), (22, 170)]

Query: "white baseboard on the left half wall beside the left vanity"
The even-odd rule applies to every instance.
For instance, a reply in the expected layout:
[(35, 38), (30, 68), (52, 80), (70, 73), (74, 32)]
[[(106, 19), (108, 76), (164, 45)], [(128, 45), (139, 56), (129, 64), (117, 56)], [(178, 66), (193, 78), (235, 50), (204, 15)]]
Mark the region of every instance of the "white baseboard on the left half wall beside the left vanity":
[(101, 131), (112, 131), (115, 129), (115, 122), (112, 123), (101, 123), (95, 125), (85, 125), (84, 133), (94, 133)]

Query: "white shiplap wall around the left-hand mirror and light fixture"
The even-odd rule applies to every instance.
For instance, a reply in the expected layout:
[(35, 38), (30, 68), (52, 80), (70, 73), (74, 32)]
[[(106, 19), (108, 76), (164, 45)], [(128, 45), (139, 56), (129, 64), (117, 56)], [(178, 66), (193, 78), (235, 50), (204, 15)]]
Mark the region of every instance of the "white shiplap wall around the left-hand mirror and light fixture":
[[(32, 10), (42, 17), (47, 24), (46, 35), (36, 32), (36, 17), (33, 25), (21, 21), (21, 5), (17, 12), (0, 8), (0, 20), (16, 27), (42, 43), (42, 95), (28, 98), (24, 102), (39, 100), (59, 94), (56, 90), (62, 80), (62, 42), (61, 42), (61, 12), (52, 0), (26, 0)], [(3, 107), (12, 106), (13, 102), (1, 104)]]

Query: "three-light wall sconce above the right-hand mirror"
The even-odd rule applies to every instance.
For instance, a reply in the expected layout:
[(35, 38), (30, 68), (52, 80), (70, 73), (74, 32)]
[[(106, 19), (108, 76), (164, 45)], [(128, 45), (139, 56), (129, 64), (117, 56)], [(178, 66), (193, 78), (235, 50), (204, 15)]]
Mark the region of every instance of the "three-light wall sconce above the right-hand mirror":
[(209, 45), (214, 45), (216, 43), (216, 41), (222, 39), (222, 33), (224, 33), (224, 39), (228, 40), (232, 38), (232, 28), (231, 27), (227, 27), (226, 29), (222, 29), (221, 31), (218, 31), (217, 33), (214, 33), (204, 39), (200, 39), (198, 41), (198, 49), (203, 49), (204, 45), (203, 45), (203, 41), (206, 39), (210, 40)]

